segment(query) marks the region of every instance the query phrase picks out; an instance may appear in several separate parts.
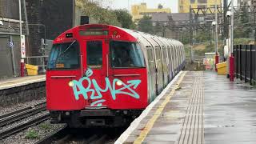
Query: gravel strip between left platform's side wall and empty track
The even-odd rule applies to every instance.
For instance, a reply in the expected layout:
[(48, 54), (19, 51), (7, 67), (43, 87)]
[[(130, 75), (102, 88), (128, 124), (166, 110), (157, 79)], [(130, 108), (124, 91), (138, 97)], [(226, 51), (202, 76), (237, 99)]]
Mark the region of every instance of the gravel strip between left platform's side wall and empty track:
[(24, 109), (28, 106), (34, 106), (41, 102), (46, 102), (46, 98), (37, 99), (37, 100), (30, 101), (30, 102), (18, 103), (18, 104), (12, 105), (12, 106), (6, 106), (6, 107), (0, 106), (0, 116), (4, 115), (4, 114), (8, 114), (10, 112), (14, 112), (16, 110)]

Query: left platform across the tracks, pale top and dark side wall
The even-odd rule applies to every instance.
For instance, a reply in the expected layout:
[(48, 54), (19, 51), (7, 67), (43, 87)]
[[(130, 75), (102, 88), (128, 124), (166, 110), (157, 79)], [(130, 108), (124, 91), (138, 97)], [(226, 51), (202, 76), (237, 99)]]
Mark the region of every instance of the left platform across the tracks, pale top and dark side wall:
[(46, 97), (46, 75), (0, 80), (0, 107)]

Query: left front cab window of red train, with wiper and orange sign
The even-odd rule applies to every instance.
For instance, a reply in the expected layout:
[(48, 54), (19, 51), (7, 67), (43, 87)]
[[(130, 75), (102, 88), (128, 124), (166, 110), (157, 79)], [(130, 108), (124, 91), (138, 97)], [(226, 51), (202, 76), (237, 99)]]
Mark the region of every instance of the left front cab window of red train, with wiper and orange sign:
[(79, 63), (78, 42), (55, 44), (50, 52), (47, 69), (78, 69)]

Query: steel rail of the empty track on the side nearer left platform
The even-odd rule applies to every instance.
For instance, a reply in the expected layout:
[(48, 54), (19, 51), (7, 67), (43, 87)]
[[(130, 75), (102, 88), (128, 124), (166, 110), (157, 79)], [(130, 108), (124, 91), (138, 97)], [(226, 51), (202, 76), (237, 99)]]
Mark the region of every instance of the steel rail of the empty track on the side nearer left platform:
[(0, 117), (0, 126), (6, 126), (11, 122), (16, 122), (22, 118), (29, 117), (34, 114), (46, 110), (46, 102), (39, 103), (35, 106), (26, 107), (22, 110), (14, 111), (10, 114), (5, 114)]

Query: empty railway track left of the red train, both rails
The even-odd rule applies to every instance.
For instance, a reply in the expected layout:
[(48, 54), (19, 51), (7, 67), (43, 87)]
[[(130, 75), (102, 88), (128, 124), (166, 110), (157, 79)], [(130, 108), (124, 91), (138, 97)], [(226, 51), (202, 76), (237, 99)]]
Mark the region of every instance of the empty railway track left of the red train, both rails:
[[(45, 112), (38, 114), (42, 111)], [(38, 105), (26, 107), (22, 110), (17, 110), (10, 114), (0, 116), (0, 127), (2, 127), (13, 124), (13, 122), (17, 122), (23, 118), (33, 116), (34, 114), (37, 114), (34, 118), (29, 118), (25, 121), (14, 124), (13, 126), (0, 130), (0, 139), (6, 138), (11, 134), (15, 134), (40, 122), (46, 121), (48, 118), (50, 118), (50, 114), (48, 111), (46, 111), (46, 102), (42, 102)]]

